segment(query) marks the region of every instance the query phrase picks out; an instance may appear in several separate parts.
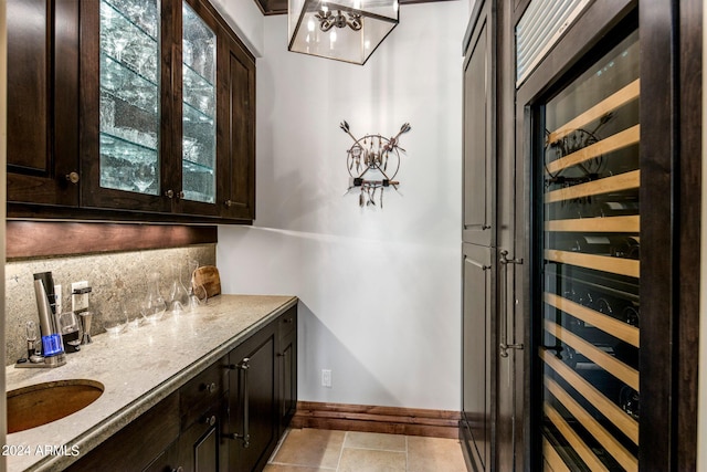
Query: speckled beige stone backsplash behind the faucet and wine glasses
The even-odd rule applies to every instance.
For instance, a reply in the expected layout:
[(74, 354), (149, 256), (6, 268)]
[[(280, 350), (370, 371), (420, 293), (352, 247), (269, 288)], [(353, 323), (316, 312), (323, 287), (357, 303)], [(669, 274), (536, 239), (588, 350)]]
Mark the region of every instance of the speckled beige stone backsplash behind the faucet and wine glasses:
[(92, 334), (118, 314), (123, 303), (133, 313), (147, 294), (149, 274), (159, 272), (165, 298), (173, 281), (175, 264), (181, 269), (182, 283), (188, 283), (188, 262), (215, 265), (215, 244), (149, 251), (87, 254), (67, 258), (14, 260), (6, 264), (6, 358), (8, 365), (27, 354), (24, 325), (28, 319), (39, 322), (34, 297), (33, 274), (52, 272), (54, 284), (62, 285), (63, 312), (71, 311), (72, 282), (87, 281), (93, 292), (89, 310), (94, 313)]

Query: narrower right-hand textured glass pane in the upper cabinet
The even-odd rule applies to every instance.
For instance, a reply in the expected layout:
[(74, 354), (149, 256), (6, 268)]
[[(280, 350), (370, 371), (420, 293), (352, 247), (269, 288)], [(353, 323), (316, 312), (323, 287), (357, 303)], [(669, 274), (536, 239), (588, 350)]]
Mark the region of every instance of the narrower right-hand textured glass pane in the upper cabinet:
[(215, 203), (217, 35), (182, 3), (182, 198)]

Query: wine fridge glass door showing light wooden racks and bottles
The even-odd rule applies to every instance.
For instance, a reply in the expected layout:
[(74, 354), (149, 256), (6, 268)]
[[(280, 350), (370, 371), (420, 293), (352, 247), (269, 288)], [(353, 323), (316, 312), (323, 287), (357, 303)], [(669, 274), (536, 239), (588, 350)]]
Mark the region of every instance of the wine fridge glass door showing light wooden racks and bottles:
[(536, 158), (542, 459), (552, 471), (636, 471), (639, 32), (539, 108)]

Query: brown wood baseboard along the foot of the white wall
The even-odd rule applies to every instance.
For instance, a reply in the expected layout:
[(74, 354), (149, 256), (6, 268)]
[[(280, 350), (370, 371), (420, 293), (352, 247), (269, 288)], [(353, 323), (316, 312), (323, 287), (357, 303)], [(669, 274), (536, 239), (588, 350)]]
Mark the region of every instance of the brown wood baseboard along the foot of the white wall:
[(458, 439), (458, 411), (298, 401), (292, 428)]

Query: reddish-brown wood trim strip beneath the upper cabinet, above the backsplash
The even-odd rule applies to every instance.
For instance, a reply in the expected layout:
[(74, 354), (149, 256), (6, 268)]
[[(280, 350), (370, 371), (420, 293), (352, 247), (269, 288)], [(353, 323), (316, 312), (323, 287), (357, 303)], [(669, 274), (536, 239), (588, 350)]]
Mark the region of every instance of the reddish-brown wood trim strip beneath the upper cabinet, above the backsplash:
[(77, 255), (218, 242), (215, 225), (7, 221), (6, 256)]

